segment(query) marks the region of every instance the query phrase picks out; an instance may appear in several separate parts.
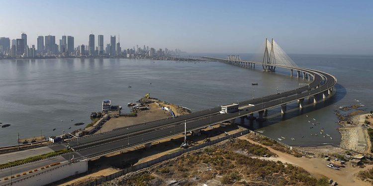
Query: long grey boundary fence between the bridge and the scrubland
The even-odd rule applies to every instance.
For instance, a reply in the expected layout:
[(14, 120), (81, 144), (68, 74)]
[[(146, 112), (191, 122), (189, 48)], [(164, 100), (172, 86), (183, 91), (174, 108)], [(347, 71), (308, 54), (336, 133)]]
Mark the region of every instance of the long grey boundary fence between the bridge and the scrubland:
[(235, 134), (227, 135), (227, 136), (224, 136), (222, 138), (218, 138), (218, 139), (215, 139), (215, 140), (212, 140), (212, 141), (208, 141), (206, 143), (202, 143), (200, 145), (193, 146), (193, 147), (190, 147), (190, 148), (187, 148), (187, 149), (182, 149), (180, 151), (177, 151), (177, 152), (174, 152), (174, 153), (171, 153), (171, 154), (167, 154), (167, 155), (161, 156), (161, 157), (156, 158), (154, 160), (150, 160), (150, 161), (138, 164), (138, 165), (134, 165), (134, 166), (128, 167), (126, 169), (122, 169), (122, 170), (120, 170), (120, 171), (118, 171), (116, 173), (113, 173), (111, 175), (108, 175), (108, 176), (105, 176), (105, 177), (102, 177), (102, 178), (97, 178), (96, 180), (92, 181), (91, 183), (89, 183), (87, 185), (88, 186), (96, 186), (96, 185), (102, 184), (104, 182), (107, 182), (107, 181), (113, 180), (115, 178), (118, 178), (120, 176), (123, 176), (123, 175), (125, 175), (127, 173), (135, 172), (135, 171), (138, 171), (138, 170), (150, 167), (150, 166), (155, 165), (157, 163), (160, 163), (160, 162), (163, 162), (163, 161), (166, 161), (166, 160), (178, 157), (178, 156), (180, 156), (180, 155), (182, 155), (182, 154), (184, 154), (186, 152), (192, 151), (192, 150), (197, 150), (197, 149), (200, 149), (200, 148), (203, 148), (203, 147), (206, 147), (206, 146), (210, 146), (210, 145), (219, 143), (219, 142), (224, 141), (224, 140), (229, 139), (229, 138), (234, 138), (234, 137), (238, 137), (238, 136), (247, 134), (250, 131), (249, 129), (246, 129), (246, 128), (241, 127), (241, 126), (239, 126), (239, 129), (243, 129), (243, 130), (240, 131), (240, 132), (237, 132)]

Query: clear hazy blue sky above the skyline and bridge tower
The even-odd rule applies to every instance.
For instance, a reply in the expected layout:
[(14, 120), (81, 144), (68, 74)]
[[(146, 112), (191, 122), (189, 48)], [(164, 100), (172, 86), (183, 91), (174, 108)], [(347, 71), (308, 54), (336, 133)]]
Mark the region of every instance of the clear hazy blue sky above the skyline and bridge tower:
[(373, 0), (0, 0), (0, 37), (120, 36), (122, 49), (255, 53), (274, 38), (288, 54), (372, 55)]

